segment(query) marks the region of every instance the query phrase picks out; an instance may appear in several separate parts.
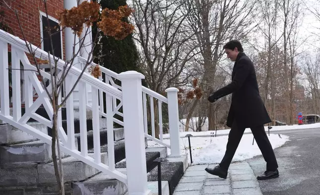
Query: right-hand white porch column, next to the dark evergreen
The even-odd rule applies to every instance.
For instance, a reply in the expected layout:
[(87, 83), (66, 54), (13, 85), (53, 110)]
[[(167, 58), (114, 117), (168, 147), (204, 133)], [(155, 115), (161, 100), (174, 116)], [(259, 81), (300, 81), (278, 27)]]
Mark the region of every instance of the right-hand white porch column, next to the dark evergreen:
[[(83, 1), (88, 1), (90, 0), (80, 0), (80, 3)], [(80, 35), (80, 40), (83, 41), (83, 46), (80, 48), (80, 56), (83, 57), (84, 59), (88, 59), (89, 53), (92, 50), (92, 32), (91, 32), (91, 26), (86, 26), (85, 24), (83, 25), (83, 31)], [(91, 56), (92, 58), (92, 56)], [(90, 59), (91, 60), (91, 59)], [(87, 70), (86, 70), (87, 72)], [(87, 103), (89, 105), (92, 105), (92, 96), (91, 96), (91, 86), (86, 85), (86, 94), (87, 94)]]

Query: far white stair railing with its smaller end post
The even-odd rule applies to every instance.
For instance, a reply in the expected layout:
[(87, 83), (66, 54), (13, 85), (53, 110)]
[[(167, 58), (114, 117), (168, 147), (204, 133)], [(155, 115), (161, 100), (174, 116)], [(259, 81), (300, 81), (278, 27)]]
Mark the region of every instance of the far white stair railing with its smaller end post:
[[(79, 57), (79, 62), (85, 63), (86, 59)], [(92, 66), (96, 66), (95, 63), (92, 63)], [(119, 78), (119, 74), (100, 66), (100, 70), (102, 75), (99, 77), (100, 81), (103, 81), (106, 84), (110, 84), (111, 86), (117, 88), (118, 90), (122, 90), (121, 79)], [(118, 83), (118, 84), (117, 84)], [(142, 86), (142, 97), (143, 97), (143, 118), (144, 118), (144, 132), (145, 137), (150, 140), (157, 142), (158, 144), (165, 146), (171, 149), (172, 156), (180, 156), (180, 142), (179, 142), (179, 124), (177, 111), (178, 111), (178, 100), (177, 100), (177, 92), (176, 88), (169, 88), (165, 92), (167, 92), (168, 98), (150, 90)], [(105, 94), (104, 94), (105, 95)], [(100, 92), (100, 105), (103, 105), (103, 94)], [(113, 102), (116, 102), (117, 98), (113, 97)], [(120, 100), (120, 99), (118, 99)], [(155, 117), (155, 100), (158, 102), (158, 118), (156, 120)], [(149, 101), (149, 106), (147, 101)], [(156, 102), (156, 103), (157, 103)], [(163, 122), (162, 122), (162, 105), (163, 103), (168, 104), (168, 119), (169, 119), (169, 133), (170, 133), (170, 144), (167, 144), (163, 141)], [(123, 117), (123, 113), (119, 111), (122, 106), (122, 101), (113, 104), (113, 114), (117, 114)], [(148, 110), (149, 109), (149, 110)], [(150, 112), (150, 121), (151, 121), (151, 134), (148, 133), (148, 111)], [(101, 113), (101, 115), (105, 115), (106, 113)], [(158, 121), (159, 125), (159, 139), (156, 138), (156, 125), (155, 121)], [(121, 120), (114, 118), (114, 122), (123, 125)]]

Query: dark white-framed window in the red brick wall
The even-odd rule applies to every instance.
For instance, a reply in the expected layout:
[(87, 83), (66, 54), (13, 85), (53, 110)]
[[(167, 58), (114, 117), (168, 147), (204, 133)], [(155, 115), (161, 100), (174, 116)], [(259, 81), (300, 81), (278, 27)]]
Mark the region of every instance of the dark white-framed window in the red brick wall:
[(62, 51), (61, 51), (61, 33), (58, 32), (60, 31), (60, 26), (57, 22), (49, 19), (49, 24), (47, 17), (42, 15), (42, 31), (43, 31), (43, 50), (52, 54), (52, 49), (51, 49), (51, 42), (49, 38), (49, 33), (48, 30), (51, 29), (51, 33), (53, 34), (52, 36), (52, 43), (53, 43), (53, 48), (55, 52), (55, 56), (59, 57), (62, 59)]

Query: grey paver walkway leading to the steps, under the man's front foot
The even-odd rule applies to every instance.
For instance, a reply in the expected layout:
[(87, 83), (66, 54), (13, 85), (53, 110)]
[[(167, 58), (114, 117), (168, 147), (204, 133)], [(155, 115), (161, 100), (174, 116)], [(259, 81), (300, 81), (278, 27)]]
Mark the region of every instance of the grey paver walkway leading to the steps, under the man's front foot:
[[(217, 165), (209, 165), (214, 168)], [(262, 195), (248, 163), (231, 164), (226, 180), (208, 174), (208, 165), (190, 166), (173, 195)]]

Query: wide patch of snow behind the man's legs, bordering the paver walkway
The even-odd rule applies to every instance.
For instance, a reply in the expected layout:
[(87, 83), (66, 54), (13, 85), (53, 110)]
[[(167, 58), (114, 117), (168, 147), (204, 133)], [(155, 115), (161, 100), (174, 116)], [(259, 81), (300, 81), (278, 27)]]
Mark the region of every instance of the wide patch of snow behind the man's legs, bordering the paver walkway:
[[(270, 134), (268, 136), (272, 148), (278, 148), (289, 141), (289, 137), (285, 135)], [(244, 161), (245, 159), (252, 158), (254, 156), (261, 155), (261, 152), (254, 141), (252, 145), (253, 135), (246, 134), (243, 135), (237, 152), (233, 158), (233, 162)], [(220, 163), (225, 152), (228, 142), (228, 136), (219, 137), (190, 137), (191, 150), (192, 150), (192, 160), (193, 165), (198, 164), (215, 164)], [(164, 143), (170, 144), (169, 139), (164, 139)], [(181, 152), (182, 154), (187, 154), (189, 163), (189, 143), (188, 138), (181, 138), (180, 140)], [(154, 141), (148, 141), (148, 146), (159, 147), (158, 143)], [(170, 149), (168, 149), (168, 155), (170, 154)]]

